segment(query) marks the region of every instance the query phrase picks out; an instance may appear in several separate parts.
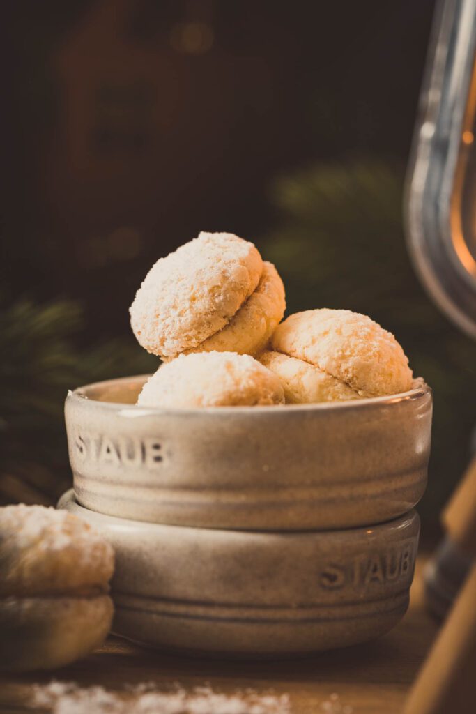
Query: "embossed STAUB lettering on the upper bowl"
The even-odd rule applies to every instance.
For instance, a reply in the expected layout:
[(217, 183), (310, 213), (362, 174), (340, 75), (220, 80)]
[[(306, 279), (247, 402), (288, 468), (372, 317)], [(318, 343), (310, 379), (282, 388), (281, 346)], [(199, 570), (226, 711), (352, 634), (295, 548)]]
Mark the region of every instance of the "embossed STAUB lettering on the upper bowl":
[(77, 433), (74, 453), (86, 463), (103, 463), (123, 468), (159, 468), (163, 461), (162, 445), (156, 438), (131, 438), (104, 434)]

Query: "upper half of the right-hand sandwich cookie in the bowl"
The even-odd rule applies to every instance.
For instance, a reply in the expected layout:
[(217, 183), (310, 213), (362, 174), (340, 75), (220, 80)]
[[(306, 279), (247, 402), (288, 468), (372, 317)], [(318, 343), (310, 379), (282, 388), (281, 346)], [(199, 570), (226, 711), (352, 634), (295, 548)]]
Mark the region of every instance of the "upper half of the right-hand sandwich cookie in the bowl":
[(273, 350), (298, 358), (340, 381), (360, 396), (382, 396), (412, 387), (412, 371), (392, 333), (350, 310), (295, 313), (276, 328)]

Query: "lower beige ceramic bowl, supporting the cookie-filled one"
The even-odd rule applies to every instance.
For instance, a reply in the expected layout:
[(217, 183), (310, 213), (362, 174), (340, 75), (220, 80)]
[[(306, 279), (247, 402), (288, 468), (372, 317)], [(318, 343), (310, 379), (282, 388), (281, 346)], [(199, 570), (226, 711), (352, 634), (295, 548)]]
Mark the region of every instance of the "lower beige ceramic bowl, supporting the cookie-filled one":
[(263, 533), (159, 526), (60, 508), (116, 551), (113, 630), (159, 648), (275, 657), (364, 642), (402, 618), (415, 511), (373, 528)]

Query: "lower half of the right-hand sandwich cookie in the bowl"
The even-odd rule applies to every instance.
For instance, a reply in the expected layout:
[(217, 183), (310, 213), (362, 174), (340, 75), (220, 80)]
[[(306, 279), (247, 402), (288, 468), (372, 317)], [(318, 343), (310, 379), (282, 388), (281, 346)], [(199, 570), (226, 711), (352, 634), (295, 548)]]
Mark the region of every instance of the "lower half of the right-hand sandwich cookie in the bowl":
[(263, 352), (259, 361), (280, 378), (287, 404), (360, 399), (358, 392), (318, 367), (280, 352)]

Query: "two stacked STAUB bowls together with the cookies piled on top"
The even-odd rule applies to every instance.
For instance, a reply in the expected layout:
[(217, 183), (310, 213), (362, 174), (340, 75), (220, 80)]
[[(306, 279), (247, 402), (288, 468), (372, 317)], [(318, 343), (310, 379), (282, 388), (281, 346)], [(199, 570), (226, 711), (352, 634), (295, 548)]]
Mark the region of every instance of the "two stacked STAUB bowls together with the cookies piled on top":
[(118, 633), (274, 656), (372, 638), (405, 612), (430, 391), (370, 318), (284, 311), (252, 243), (201, 233), (131, 306), (158, 371), (66, 401), (61, 506), (116, 550)]

